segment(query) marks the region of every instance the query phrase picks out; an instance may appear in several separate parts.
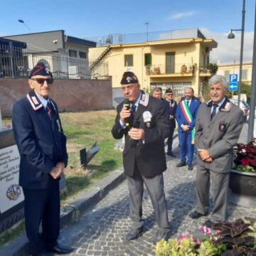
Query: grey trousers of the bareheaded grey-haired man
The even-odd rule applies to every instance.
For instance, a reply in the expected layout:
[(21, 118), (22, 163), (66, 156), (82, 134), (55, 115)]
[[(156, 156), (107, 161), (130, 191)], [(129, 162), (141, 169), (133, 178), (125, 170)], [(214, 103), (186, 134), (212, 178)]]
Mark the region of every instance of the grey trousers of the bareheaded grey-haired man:
[(226, 220), (229, 178), (229, 173), (220, 174), (198, 164), (196, 171), (196, 211), (206, 213), (206, 207), (209, 206), (210, 202), (211, 185), (213, 210), (210, 213), (210, 220), (213, 223)]

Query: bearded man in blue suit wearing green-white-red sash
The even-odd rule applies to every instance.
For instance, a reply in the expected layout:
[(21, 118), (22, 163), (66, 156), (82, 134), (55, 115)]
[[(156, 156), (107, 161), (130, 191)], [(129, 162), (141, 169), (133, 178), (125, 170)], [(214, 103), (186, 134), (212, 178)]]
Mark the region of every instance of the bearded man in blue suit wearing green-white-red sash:
[[(178, 142), (180, 144), (181, 162), (176, 166), (186, 166), (188, 170), (193, 170), (193, 137), (195, 133), (196, 114), (200, 103), (193, 100), (193, 90), (191, 87), (186, 87), (184, 90), (185, 98), (178, 103), (176, 110), (176, 120), (178, 122)], [(188, 158), (186, 163), (186, 157)]]

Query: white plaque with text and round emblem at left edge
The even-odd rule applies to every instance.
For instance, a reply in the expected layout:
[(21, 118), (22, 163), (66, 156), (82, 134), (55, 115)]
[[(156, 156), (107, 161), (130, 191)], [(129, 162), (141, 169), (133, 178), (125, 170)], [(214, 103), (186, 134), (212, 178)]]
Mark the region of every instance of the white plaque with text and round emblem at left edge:
[(24, 200), (22, 188), (18, 186), (19, 162), (16, 145), (0, 149), (0, 213)]

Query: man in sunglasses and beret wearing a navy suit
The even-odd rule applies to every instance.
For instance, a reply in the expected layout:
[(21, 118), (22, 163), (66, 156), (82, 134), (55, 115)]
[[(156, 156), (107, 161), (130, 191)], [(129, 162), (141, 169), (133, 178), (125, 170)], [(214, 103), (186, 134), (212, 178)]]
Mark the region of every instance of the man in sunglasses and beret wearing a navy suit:
[[(14, 137), (21, 156), (19, 184), (25, 196), (25, 225), (33, 256), (72, 252), (57, 242), (60, 230), (59, 181), (68, 163), (58, 108), (49, 98), (53, 75), (38, 63), (29, 75), (31, 91), (15, 103)], [(42, 233), (39, 225), (42, 222)]]

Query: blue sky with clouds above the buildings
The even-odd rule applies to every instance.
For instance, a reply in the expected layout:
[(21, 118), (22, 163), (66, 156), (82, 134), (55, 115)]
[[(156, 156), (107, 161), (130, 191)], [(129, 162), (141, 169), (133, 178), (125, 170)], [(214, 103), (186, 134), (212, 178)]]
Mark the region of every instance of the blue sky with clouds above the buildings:
[[(92, 38), (122, 33), (199, 28), (218, 42), (213, 61), (239, 63), (243, 0), (9, 0), (0, 9), (0, 36), (63, 29), (70, 36)], [(252, 61), (255, 1), (245, 0), (244, 62)], [(3, 7), (3, 6), (2, 6)], [(19, 23), (22, 19), (24, 23)], [(148, 26), (146, 26), (148, 23)], [(24, 26), (26, 25), (26, 26)]]

